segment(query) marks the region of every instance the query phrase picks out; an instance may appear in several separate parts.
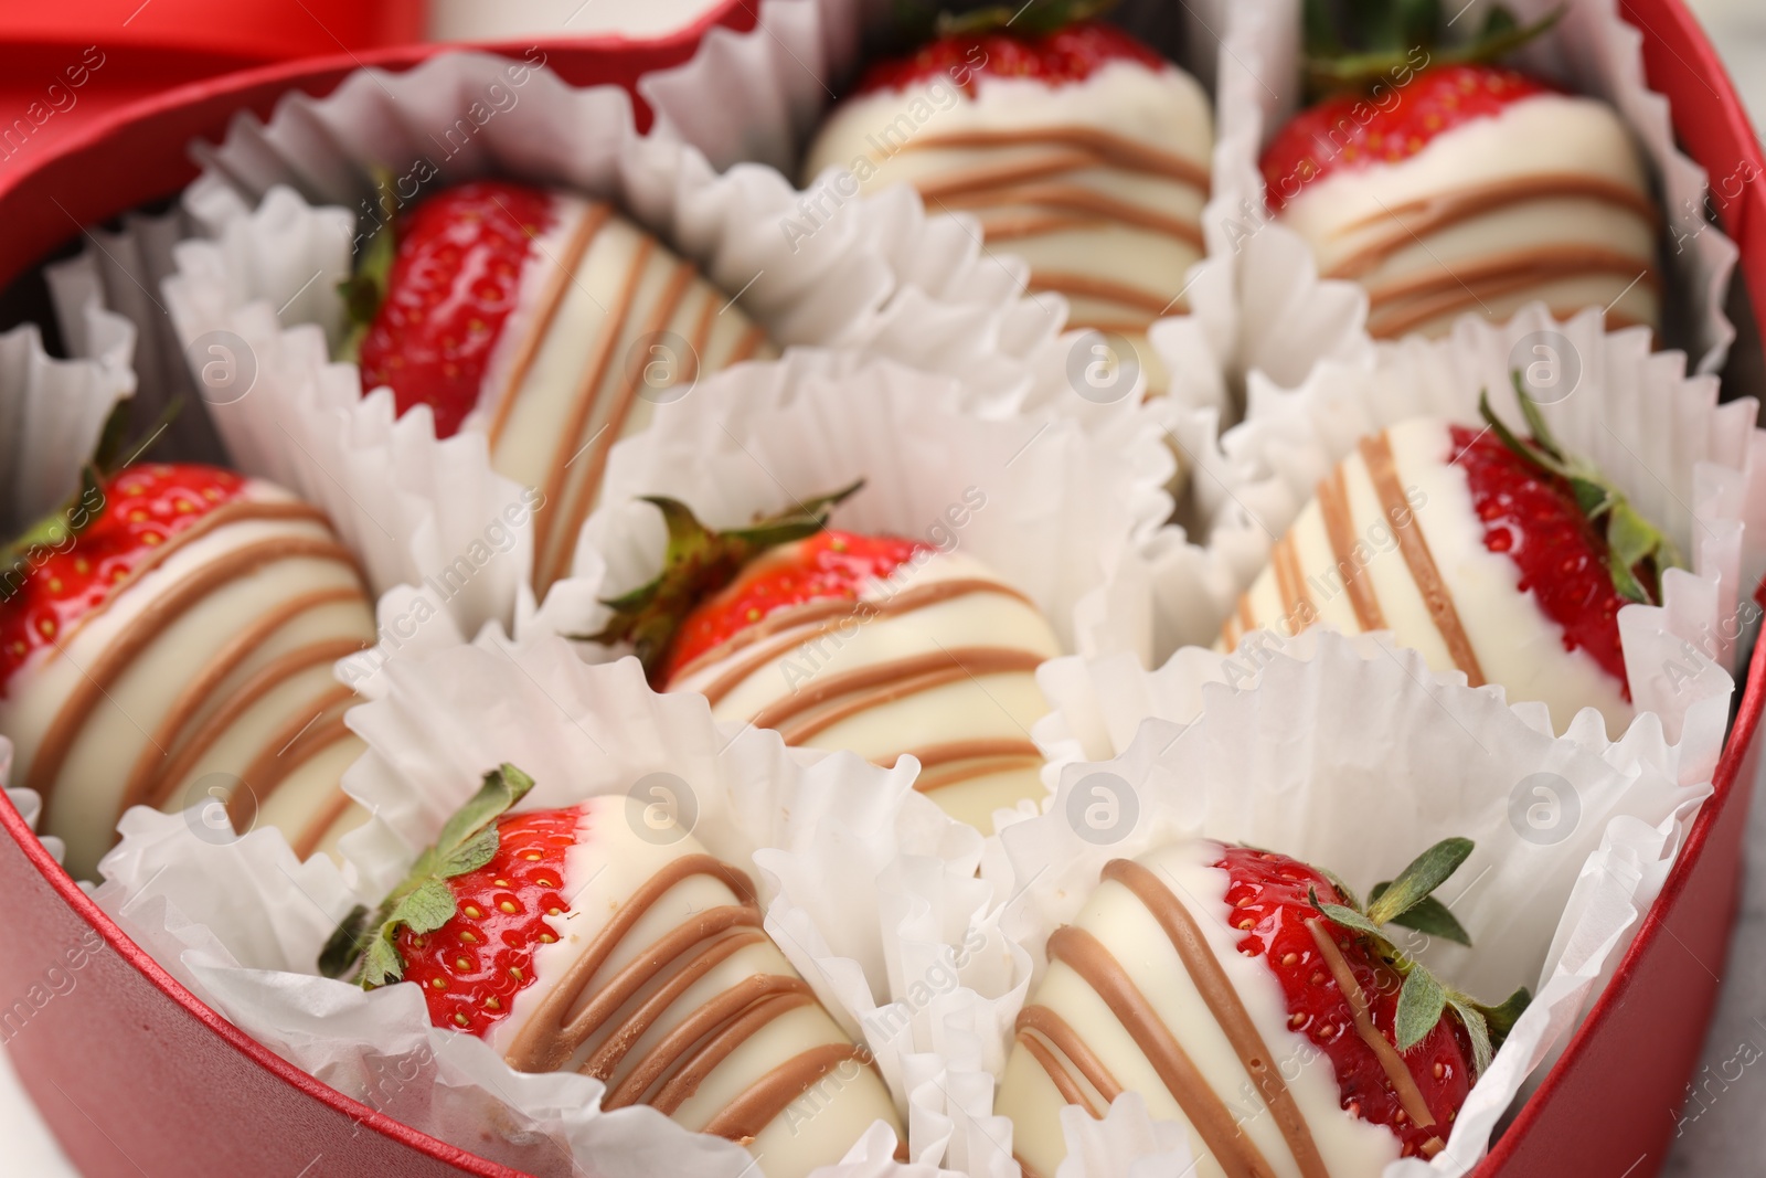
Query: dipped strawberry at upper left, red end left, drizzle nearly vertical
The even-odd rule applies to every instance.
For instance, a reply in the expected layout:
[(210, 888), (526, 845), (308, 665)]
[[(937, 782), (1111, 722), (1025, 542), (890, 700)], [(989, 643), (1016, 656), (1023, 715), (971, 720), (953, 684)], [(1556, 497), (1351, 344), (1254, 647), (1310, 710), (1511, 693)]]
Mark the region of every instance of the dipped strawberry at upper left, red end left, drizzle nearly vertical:
[[(772, 344), (729, 298), (606, 201), (510, 180), (445, 189), (380, 226), (344, 284), (346, 355), (438, 438), (489, 434), (537, 487), (535, 586), (570, 570), (622, 436), (678, 383)], [(678, 396), (678, 394), (676, 394)]]

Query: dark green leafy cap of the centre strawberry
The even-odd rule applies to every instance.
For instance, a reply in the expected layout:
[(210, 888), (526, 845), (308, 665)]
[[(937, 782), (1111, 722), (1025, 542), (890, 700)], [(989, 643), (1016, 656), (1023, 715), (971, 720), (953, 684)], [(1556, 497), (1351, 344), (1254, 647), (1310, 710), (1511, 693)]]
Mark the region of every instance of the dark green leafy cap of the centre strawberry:
[(613, 618), (599, 634), (570, 638), (604, 646), (630, 643), (650, 682), (660, 687), (657, 676), (687, 615), (735, 581), (754, 558), (826, 528), (834, 509), (857, 495), (862, 486), (864, 479), (832, 495), (798, 502), (793, 510), (729, 532), (706, 528), (692, 509), (678, 500), (645, 496), (645, 503), (662, 512), (668, 528), (662, 572), (648, 585), (604, 599), (600, 604), (613, 609)]

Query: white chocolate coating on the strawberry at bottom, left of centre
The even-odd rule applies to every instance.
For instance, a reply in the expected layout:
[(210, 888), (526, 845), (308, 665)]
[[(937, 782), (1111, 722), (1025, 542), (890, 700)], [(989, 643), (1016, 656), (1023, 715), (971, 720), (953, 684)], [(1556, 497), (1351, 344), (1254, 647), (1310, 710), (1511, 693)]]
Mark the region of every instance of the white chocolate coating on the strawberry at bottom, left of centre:
[[(625, 929), (599, 968), (588, 978), (569, 977), (574, 963), (597, 952), (597, 938), (608, 924), (627, 904), (643, 902), (636, 897), (646, 883), (671, 867), (680, 869), (682, 860), (706, 853), (698, 839), (671, 821), (657, 819), (634, 798), (597, 797), (579, 809), (583, 818), (577, 842), (565, 857), (563, 887), (570, 894), (570, 911), (551, 918), (558, 940), (537, 948), (533, 984), (516, 996), (509, 1017), (493, 1024), (491, 1047), (510, 1056), (514, 1067), (523, 1067), (532, 1061), (526, 1053), (533, 1044), (556, 1042), (558, 1010), (579, 1012), (622, 970), (653, 961), (659, 966), (653, 975), (574, 1044), (563, 1067), (579, 1069), (609, 1040), (630, 1035), (632, 1019), (645, 1003), (675, 978), (687, 977), (696, 959), (706, 954), (715, 957), (719, 947), (735, 945), (733, 952), (666, 1000), (655, 1021), (630, 1038), (611, 1070), (602, 1072), (608, 1107), (636, 1100), (657, 1104), (659, 1097), (664, 1104), (673, 1104), (664, 1095), (669, 1083), (682, 1072), (698, 1069), (703, 1076), (691, 1095), (662, 1111), (687, 1129), (715, 1130), (719, 1114), (745, 1093), (765, 1090), (768, 1076), (793, 1070), (793, 1060), (802, 1060), (805, 1053), (832, 1053), (839, 1056), (837, 1063), (821, 1070), (819, 1077), (798, 1070), (770, 1100), (770, 1107), (779, 1111), (758, 1114), (765, 1121), (743, 1144), (763, 1159), (765, 1173), (770, 1178), (798, 1178), (818, 1166), (834, 1164), (878, 1120), (887, 1121), (901, 1137), (894, 1100), (869, 1056), (851, 1047), (851, 1040), (821, 1003), (814, 1001), (784, 954), (761, 933), (752, 897), (738, 895), (715, 874), (692, 872), (671, 885), (664, 881), (666, 890)], [(719, 913), (736, 910), (747, 915), (735, 924), (719, 920)], [(696, 922), (696, 940), (673, 954), (657, 948), (662, 938)], [(743, 998), (743, 993), (752, 998)], [(703, 1016), (721, 1000), (731, 1005), (703, 1031), (678, 1037), (669, 1046), (669, 1037), (683, 1023)], [(712, 1049), (715, 1054), (717, 1038), (733, 1028), (740, 1037), (740, 1023), (765, 1014), (766, 1003), (775, 1003), (774, 1017), (756, 1019), (759, 1024), (751, 1026), (751, 1033), (733, 1051), (708, 1070), (699, 1067), (705, 1060), (699, 1053)], [(659, 1067), (655, 1079), (641, 1091), (616, 1099), (622, 1084), (645, 1067), (646, 1058)]]

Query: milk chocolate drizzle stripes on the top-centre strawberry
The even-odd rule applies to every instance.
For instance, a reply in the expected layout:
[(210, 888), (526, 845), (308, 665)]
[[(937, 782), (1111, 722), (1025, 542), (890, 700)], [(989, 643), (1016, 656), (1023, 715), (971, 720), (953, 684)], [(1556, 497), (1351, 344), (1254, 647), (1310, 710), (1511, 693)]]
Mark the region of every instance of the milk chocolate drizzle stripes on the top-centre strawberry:
[[(1031, 148), (1026, 152), (1026, 148)], [(1151, 203), (1113, 196), (1083, 173), (1132, 173), (1196, 189), (1208, 196), (1208, 168), (1173, 152), (1114, 134), (1102, 127), (971, 129), (922, 134), (897, 152), (971, 150), (1017, 152), (966, 168), (915, 180), (920, 196), (940, 208), (970, 208), (982, 214), (987, 242), (1024, 240), (1074, 230), (1127, 226), (1183, 242), (1203, 253), (1201, 223), (1194, 215), (1171, 215)], [(1125, 276), (1127, 277), (1127, 276)], [(1127, 314), (1107, 320), (1074, 320), (1068, 327), (1091, 327), (1121, 334), (1144, 332), (1160, 314), (1181, 307), (1181, 298), (1148, 290), (1125, 279), (1060, 270), (1031, 270), (1031, 291), (1060, 291), (1116, 304)]]

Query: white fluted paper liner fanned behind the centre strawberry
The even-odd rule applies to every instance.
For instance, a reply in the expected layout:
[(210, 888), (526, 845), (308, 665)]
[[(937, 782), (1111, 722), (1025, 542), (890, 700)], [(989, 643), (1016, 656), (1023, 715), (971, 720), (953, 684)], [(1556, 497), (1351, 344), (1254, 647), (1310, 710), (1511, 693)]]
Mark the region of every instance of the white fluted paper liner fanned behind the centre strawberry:
[[(1148, 659), (1139, 549), (1171, 512), (1162, 438), (1132, 403), (1086, 424), (975, 417), (957, 381), (851, 353), (804, 350), (731, 369), (659, 406), (648, 431), (615, 447), (576, 576), (553, 590), (539, 625), (592, 634), (608, 616), (597, 599), (655, 576), (664, 532), (639, 496), (668, 495), (712, 526), (733, 526), (864, 479), (835, 526), (955, 547), (1026, 593), (1067, 650)], [(964, 493), (984, 503), (954, 528), (947, 514)]]

